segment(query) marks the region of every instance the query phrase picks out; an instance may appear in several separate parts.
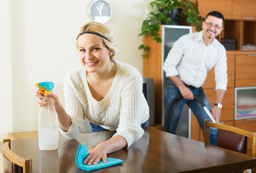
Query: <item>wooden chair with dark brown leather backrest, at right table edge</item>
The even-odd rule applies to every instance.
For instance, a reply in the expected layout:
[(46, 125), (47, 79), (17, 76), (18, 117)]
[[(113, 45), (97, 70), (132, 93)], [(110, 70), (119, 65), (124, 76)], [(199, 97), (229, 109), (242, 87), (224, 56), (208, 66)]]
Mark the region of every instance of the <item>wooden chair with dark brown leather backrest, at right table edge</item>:
[[(252, 138), (252, 153), (249, 155), (256, 156), (255, 132), (242, 130), (240, 128), (235, 128), (230, 125), (211, 123), (210, 120), (205, 120), (205, 144), (210, 144), (210, 127), (218, 129), (218, 138), (216, 146), (228, 148), (244, 154), (247, 154), (247, 138)], [(256, 172), (256, 169), (252, 169), (252, 172)]]

